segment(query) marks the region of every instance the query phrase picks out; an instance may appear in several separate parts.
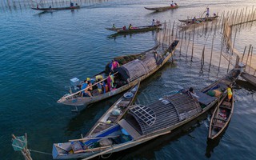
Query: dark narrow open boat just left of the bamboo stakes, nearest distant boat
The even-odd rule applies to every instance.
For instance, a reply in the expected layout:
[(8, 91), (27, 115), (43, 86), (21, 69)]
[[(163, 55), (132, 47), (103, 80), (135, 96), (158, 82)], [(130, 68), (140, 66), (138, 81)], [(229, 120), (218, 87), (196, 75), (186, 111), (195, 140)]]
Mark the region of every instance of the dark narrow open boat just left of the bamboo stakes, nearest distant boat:
[(122, 30), (122, 28), (106, 28), (106, 30), (116, 31), (118, 34), (134, 33), (134, 32), (146, 32), (151, 30), (158, 30), (162, 24), (157, 24), (154, 26), (136, 26), (132, 29)]

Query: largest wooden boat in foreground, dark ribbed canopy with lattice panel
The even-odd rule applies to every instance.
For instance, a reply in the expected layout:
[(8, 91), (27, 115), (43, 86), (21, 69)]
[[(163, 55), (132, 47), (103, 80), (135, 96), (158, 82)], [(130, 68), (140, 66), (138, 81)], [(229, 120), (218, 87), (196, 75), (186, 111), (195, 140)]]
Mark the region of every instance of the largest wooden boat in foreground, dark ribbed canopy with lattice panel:
[[(150, 141), (163, 134), (169, 134), (206, 113), (225, 94), (226, 87), (232, 86), (240, 70), (231, 70), (226, 77), (196, 92), (197, 100), (186, 92), (173, 94), (159, 99), (147, 106), (130, 106), (126, 118), (114, 126), (101, 130), (89, 137), (54, 143), (53, 158), (90, 159), (103, 154), (112, 154)], [(218, 97), (208, 95), (213, 90), (220, 90)]]

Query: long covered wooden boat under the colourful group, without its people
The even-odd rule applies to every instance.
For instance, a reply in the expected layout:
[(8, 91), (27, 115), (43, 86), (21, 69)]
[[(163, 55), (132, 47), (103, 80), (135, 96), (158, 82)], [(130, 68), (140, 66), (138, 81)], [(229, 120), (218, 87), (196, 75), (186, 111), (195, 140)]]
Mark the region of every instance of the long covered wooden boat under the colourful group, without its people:
[[(118, 84), (114, 83), (113, 90), (108, 90), (104, 94), (98, 94), (97, 88), (95, 88), (91, 91), (93, 98), (81, 97), (80, 93), (82, 90), (79, 90), (74, 94), (65, 94), (58, 100), (58, 103), (71, 106), (84, 106), (93, 102), (98, 102), (103, 99), (110, 98), (115, 94), (119, 94), (125, 90), (128, 90), (130, 87), (137, 84), (138, 81), (142, 81), (148, 78), (151, 74), (154, 74), (157, 70), (159, 70), (168, 61), (172, 54), (174, 54), (176, 46), (178, 46), (178, 42), (178, 40), (174, 40), (174, 42), (172, 42), (172, 44), (169, 46), (168, 50), (161, 50), (158, 47), (154, 47), (151, 50), (143, 52), (142, 54), (137, 54), (137, 58), (133, 60), (130, 59), (130, 62), (128, 62), (129, 60), (127, 59), (125, 59), (125, 62), (121, 62), (116, 59), (120, 64), (123, 65), (115, 70), (116, 72), (114, 74), (114, 82), (118, 82)], [(98, 75), (101, 75), (103, 78), (102, 81), (106, 82), (109, 73), (104, 70), (101, 73), (91, 77), (90, 79), (95, 79)], [(93, 84), (93, 86), (95, 85), (97, 85), (97, 83)]]

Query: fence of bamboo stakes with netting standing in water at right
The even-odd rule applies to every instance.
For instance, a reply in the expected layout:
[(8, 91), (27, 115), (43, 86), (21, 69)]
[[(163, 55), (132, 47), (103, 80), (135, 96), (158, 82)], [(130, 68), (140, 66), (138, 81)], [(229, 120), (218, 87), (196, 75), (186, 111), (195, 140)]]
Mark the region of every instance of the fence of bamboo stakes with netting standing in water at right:
[[(216, 34), (221, 35), (221, 48), (219, 60), (218, 60), (218, 71), (221, 67), (222, 58), (226, 59), (228, 62), (227, 72), (230, 70), (230, 66), (235, 66), (238, 63), (238, 56), (242, 57), (241, 62), (244, 62), (250, 71), (256, 72), (252, 67), (252, 59), (253, 59), (253, 47), (249, 46), (248, 54), (245, 57), (246, 51), (243, 54), (239, 54), (238, 50), (235, 50), (235, 42), (236, 36), (239, 31), (242, 30), (242, 26), (252, 26), (253, 22), (256, 21), (255, 8), (252, 6), (252, 9), (249, 10), (248, 7), (243, 8), (241, 10), (233, 10), (228, 11), (225, 14), (225, 11), (219, 16), (218, 21), (213, 22), (205, 22), (200, 28), (196, 28), (196, 26), (192, 26), (189, 30), (180, 30), (178, 27), (182, 25), (179, 22), (163, 22), (163, 30), (159, 31), (156, 37), (156, 40), (159, 44), (162, 44), (163, 48), (166, 48), (173, 42), (174, 39), (180, 40), (180, 48), (179, 55), (182, 55), (182, 46), (185, 48), (186, 59), (188, 58), (188, 52), (190, 53), (190, 61), (193, 62), (194, 58), (194, 38), (205, 38), (205, 44), (202, 48), (202, 56), (201, 56), (201, 71), (203, 72), (203, 66), (205, 64), (205, 50), (206, 50), (206, 42), (210, 35), (212, 35), (211, 41), (211, 50), (210, 55), (206, 55), (210, 57), (209, 68), (212, 66), (212, 58), (214, 54), (214, 39), (217, 37)], [(232, 31), (233, 30), (233, 31)], [(234, 38), (232, 38), (232, 33), (234, 33)], [(186, 41), (185, 44), (184, 41)], [(192, 42), (190, 42), (192, 41)], [(219, 41), (218, 41), (219, 42)], [(192, 43), (192, 44), (190, 44)], [(185, 46), (184, 46), (185, 45)], [(191, 48), (191, 49), (190, 49)], [(246, 48), (245, 48), (246, 50)], [(249, 54), (250, 53), (250, 54)], [(216, 55), (215, 55), (216, 56)], [(236, 59), (234, 59), (236, 58)], [(255, 64), (256, 65), (256, 64)], [(248, 72), (248, 71), (247, 71)]]

